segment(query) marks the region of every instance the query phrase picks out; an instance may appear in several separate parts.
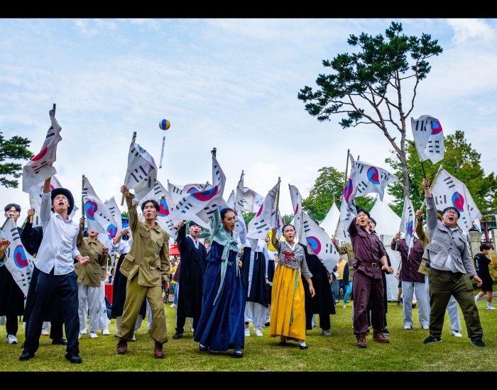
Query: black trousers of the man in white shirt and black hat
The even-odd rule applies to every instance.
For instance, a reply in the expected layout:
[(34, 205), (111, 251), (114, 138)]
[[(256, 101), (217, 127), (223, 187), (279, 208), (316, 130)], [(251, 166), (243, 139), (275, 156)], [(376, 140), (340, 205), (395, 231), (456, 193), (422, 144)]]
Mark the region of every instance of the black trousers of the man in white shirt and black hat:
[(26, 329), (24, 352), (34, 354), (38, 350), (43, 319), (46, 318), (55, 296), (58, 296), (62, 303), (62, 317), (67, 337), (66, 356), (80, 353), (80, 342), (77, 340), (80, 333), (80, 318), (77, 312), (77, 274), (73, 271), (65, 275), (54, 275), (53, 269), (50, 274), (45, 274), (45, 272), (38, 274), (33, 310), (29, 327)]

